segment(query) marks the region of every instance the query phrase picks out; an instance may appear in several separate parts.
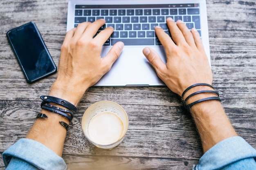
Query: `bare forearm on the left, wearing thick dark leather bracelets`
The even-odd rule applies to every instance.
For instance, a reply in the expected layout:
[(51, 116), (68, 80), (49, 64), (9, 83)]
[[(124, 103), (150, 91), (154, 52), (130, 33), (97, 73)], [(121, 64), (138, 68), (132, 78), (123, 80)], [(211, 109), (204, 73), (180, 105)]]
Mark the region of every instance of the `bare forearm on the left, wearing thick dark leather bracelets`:
[[(87, 88), (84, 88), (83, 90), (79, 89), (77, 91), (72, 91), (71, 89), (73, 88), (68, 87), (71, 87), (71, 84), (68, 84), (68, 86), (61, 86), (61, 84), (56, 81), (49, 92), (49, 96), (64, 99), (77, 106), (81, 97), (83, 96), (84, 91)], [(58, 104), (53, 105), (63, 108), (63, 106)], [(53, 150), (57, 155), (61, 156), (67, 130), (61, 126), (59, 122), (64, 121), (65, 123), (69, 124), (69, 121), (67, 118), (61, 115), (44, 109), (41, 111), (41, 113), (47, 115), (47, 118), (37, 119), (27, 134), (27, 138), (44, 144), (49, 149)]]

